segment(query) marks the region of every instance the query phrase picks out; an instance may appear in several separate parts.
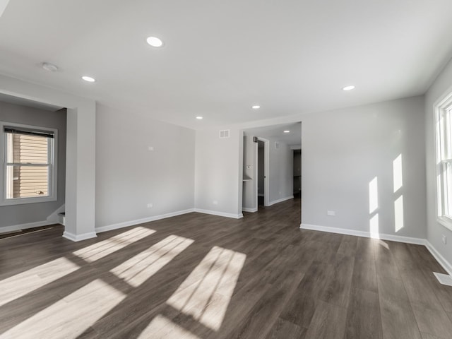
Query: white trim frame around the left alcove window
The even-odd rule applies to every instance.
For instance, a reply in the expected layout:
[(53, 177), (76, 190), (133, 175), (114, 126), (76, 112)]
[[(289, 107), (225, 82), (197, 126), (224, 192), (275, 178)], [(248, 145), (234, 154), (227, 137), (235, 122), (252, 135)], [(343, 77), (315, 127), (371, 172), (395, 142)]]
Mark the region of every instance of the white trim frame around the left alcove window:
[[(37, 131), (47, 131), (54, 134), (52, 143), (49, 145), (50, 162), (49, 162), (49, 195), (48, 196), (32, 196), (24, 198), (6, 198), (6, 145), (8, 145), (4, 128), (16, 127), (17, 129), (35, 129)], [(45, 203), (48, 201), (57, 201), (57, 182), (58, 182), (58, 130), (51, 127), (33, 126), (26, 124), (16, 124), (8, 121), (0, 121), (0, 206), (14, 206), (25, 203)]]

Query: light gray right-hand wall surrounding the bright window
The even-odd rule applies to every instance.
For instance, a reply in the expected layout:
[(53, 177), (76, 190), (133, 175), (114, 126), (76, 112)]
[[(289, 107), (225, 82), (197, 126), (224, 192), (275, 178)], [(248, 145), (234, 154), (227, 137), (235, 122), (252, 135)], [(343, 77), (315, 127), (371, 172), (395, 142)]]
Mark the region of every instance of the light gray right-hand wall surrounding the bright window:
[[(434, 136), (434, 103), (452, 92), (452, 61), (436, 78), (425, 95), (425, 135), (427, 151), (427, 239), (449, 265), (452, 263), (452, 231), (436, 222), (436, 158)], [(443, 244), (441, 235), (447, 237)]]

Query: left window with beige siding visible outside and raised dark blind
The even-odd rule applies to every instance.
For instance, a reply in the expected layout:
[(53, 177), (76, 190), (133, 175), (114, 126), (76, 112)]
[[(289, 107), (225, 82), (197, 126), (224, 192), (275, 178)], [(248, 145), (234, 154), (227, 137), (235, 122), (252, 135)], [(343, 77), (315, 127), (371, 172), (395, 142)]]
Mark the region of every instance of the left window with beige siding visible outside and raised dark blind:
[(5, 201), (52, 196), (54, 131), (4, 126), (3, 132)]

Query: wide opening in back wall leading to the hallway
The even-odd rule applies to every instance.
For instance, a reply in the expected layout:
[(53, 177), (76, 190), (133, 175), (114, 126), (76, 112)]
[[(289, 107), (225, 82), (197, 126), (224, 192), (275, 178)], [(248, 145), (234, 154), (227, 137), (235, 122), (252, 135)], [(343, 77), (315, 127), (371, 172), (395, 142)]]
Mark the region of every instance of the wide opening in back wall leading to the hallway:
[(246, 129), (243, 138), (242, 212), (292, 201), (301, 215), (301, 122)]

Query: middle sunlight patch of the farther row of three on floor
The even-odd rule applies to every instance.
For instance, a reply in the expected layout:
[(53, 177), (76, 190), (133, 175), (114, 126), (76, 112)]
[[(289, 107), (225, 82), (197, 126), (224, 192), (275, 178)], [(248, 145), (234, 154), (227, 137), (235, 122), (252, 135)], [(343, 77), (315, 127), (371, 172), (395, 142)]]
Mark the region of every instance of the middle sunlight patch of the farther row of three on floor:
[(170, 235), (128, 261), (124, 261), (110, 272), (124, 279), (133, 287), (138, 287), (193, 242), (192, 239)]

